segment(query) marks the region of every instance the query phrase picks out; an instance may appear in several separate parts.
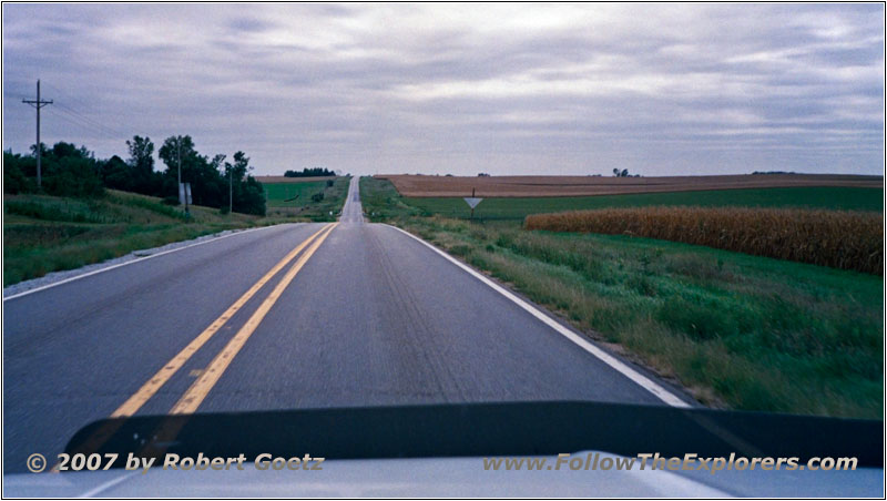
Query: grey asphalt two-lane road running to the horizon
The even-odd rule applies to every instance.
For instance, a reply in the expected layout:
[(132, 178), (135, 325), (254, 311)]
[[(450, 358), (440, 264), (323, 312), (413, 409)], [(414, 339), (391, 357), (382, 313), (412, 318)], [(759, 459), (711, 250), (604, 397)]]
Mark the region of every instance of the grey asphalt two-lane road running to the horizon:
[[(136, 415), (565, 399), (664, 405), (424, 243), (363, 223), (356, 181), (341, 222), (242, 304), (327, 225), (244, 232), (4, 300), (4, 472), (26, 471), (33, 452), (54, 457), (78, 429), (124, 402)], [(220, 320), (232, 305), (236, 311)], [(221, 328), (206, 337), (214, 323)], [(198, 349), (132, 405), (198, 335)]]

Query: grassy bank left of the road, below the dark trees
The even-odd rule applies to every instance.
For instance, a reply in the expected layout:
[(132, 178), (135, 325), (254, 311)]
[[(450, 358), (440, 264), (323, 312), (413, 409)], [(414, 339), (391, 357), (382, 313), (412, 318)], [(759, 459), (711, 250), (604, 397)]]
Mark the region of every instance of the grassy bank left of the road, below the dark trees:
[(244, 214), (192, 206), (186, 217), (159, 198), (109, 191), (83, 201), (47, 195), (3, 196), (3, 286), (156, 247), (265, 224)]

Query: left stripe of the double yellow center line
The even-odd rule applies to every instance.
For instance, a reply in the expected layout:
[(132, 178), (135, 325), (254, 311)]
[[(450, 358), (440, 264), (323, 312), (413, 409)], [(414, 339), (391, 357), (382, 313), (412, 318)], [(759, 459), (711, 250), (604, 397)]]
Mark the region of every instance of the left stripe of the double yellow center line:
[(274, 265), (274, 267), (271, 268), (268, 273), (265, 274), (265, 276), (263, 276), (262, 278), (258, 279), (258, 282), (253, 284), (253, 286), (249, 287), (249, 289), (246, 293), (244, 293), (244, 295), (241, 296), (239, 299), (234, 301), (234, 304), (231, 305), (231, 307), (226, 309), (221, 317), (216, 318), (215, 321), (210, 324), (210, 327), (206, 327), (206, 329), (203, 333), (201, 333), (200, 336), (195, 337), (191, 342), (188, 342), (188, 345), (184, 347), (184, 349), (182, 349), (182, 351), (180, 351), (179, 355), (173, 357), (172, 360), (170, 360), (166, 365), (163, 366), (163, 368), (161, 368), (157, 371), (157, 374), (155, 374), (151, 379), (147, 380), (147, 382), (145, 382), (141, 388), (139, 388), (139, 391), (133, 393), (132, 397), (130, 397), (125, 402), (123, 402), (123, 405), (120, 406), (118, 410), (115, 410), (111, 415), (111, 417), (121, 418), (134, 415), (135, 411), (137, 411), (142, 406), (144, 406), (145, 402), (149, 399), (151, 399), (151, 397), (153, 397), (154, 393), (156, 393), (157, 390), (160, 390), (160, 388), (163, 385), (165, 385), (166, 381), (169, 381), (170, 378), (173, 377), (173, 375), (179, 369), (182, 368), (182, 366), (185, 365), (185, 362), (191, 358), (192, 355), (194, 355), (203, 345), (205, 345), (206, 341), (208, 341), (210, 338), (213, 337), (213, 335), (217, 333), (218, 329), (221, 329), (222, 326), (224, 326), (225, 323), (228, 321), (228, 319), (233, 317), (234, 314), (237, 313), (237, 310), (241, 309), (243, 305), (245, 305), (246, 301), (248, 301), (249, 298), (252, 298), (258, 292), (258, 289), (262, 288), (262, 286), (267, 284), (267, 282), (271, 280), (274, 277), (274, 275), (277, 274), (277, 272), (279, 272), (284, 266), (286, 266), (298, 253), (302, 252), (302, 249), (304, 249), (313, 239), (315, 239), (317, 235), (319, 235), (325, 229), (328, 229), (332, 225), (324, 226), (323, 228), (317, 231), (317, 233), (309, 236), (305, 242), (296, 246), (296, 248), (294, 248), (286, 256), (284, 256), (284, 258), (281, 259), (276, 265)]

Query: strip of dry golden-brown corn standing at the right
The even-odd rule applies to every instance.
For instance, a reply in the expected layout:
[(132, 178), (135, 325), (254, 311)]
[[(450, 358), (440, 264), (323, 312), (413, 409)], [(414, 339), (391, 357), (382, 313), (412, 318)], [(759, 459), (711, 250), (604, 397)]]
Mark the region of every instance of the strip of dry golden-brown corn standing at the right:
[(526, 229), (634, 235), (884, 274), (879, 213), (747, 207), (640, 207), (536, 214)]

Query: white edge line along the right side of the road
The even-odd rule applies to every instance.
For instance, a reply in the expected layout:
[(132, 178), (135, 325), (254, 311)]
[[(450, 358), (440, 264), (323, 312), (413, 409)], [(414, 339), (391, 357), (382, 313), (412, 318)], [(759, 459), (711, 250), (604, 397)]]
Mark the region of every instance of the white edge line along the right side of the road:
[(516, 296), (514, 294), (512, 294), (508, 289), (503, 288), (499, 284), (497, 284), (497, 283), (490, 280), (489, 278), (485, 277), (483, 275), (477, 273), (476, 270), (473, 270), (471, 267), (469, 267), (465, 263), (459, 262), (455, 257), (450, 256), (449, 254), (445, 253), (443, 250), (440, 250), (439, 248), (435, 247), (434, 245), (429, 244), (428, 242), (425, 242), (424, 239), (417, 237), (416, 235), (414, 235), (414, 234), (411, 234), (409, 232), (406, 232), (406, 231), (404, 231), (401, 228), (398, 228), (397, 226), (391, 226), (389, 224), (386, 224), (385, 226), (395, 228), (398, 232), (400, 232), (400, 233), (402, 233), (402, 234), (405, 234), (405, 235), (407, 235), (407, 236), (409, 236), (409, 237), (411, 237), (411, 238), (425, 244), (431, 250), (434, 250), (434, 252), (438, 253), (439, 255), (443, 256), (447, 260), (449, 260), (450, 263), (455, 264), (456, 266), (462, 268), (465, 272), (467, 272), (469, 275), (473, 276), (478, 280), (480, 280), (480, 282), (487, 284), (488, 286), (492, 287), (492, 289), (496, 290), (497, 293), (499, 293), (502, 296), (511, 299), (514, 304), (517, 304), (518, 306), (520, 306), (521, 308), (523, 308), (524, 310), (530, 313), (530, 315), (534, 316), (536, 318), (541, 320), (547, 326), (549, 326), (552, 329), (557, 330), (559, 334), (563, 335), (567, 339), (570, 339), (571, 341), (575, 342), (577, 345), (582, 347), (585, 351), (588, 351), (591, 355), (595, 356), (601, 361), (603, 361), (608, 366), (612, 367), (613, 369), (615, 369), (616, 371), (619, 371), (620, 374), (622, 374), (626, 378), (631, 379), (636, 385), (639, 385), (641, 388), (650, 391), (651, 393), (656, 396), (660, 400), (664, 401), (665, 403), (667, 403), (667, 405), (670, 405), (672, 407), (681, 407), (681, 408), (690, 408), (691, 407), (690, 403), (687, 403), (684, 400), (680, 399), (677, 396), (675, 396), (671, 391), (666, 390), (661, 385), (657, 385), (655, 381), (651, 380), (646, 376), (642, 375), (641, 372), (638, 372), (636, 370), (634, 370), (631, 367), (629, 367), (628, 365), (623, 364), (621, 360), (616, 359), (612, 355), (608, 354), (606, 351), (602, 350), (601, 348), (598, 348), (597, 346), (592, 345), (588, 340), (583, 339), (581, 336), (577, 335), (575, 333), (571, 331), (570, 329), (568, 329), (564, 326), (560, 325), (559, 323), (554, 321), (551, 317), (549, 317), (548, 315), (543, 314), (542, 311), (540, 311), (534, 306), (532, 306), (529, 303), (524, 301), (523, 299), (519, 298), (518, 296)]

